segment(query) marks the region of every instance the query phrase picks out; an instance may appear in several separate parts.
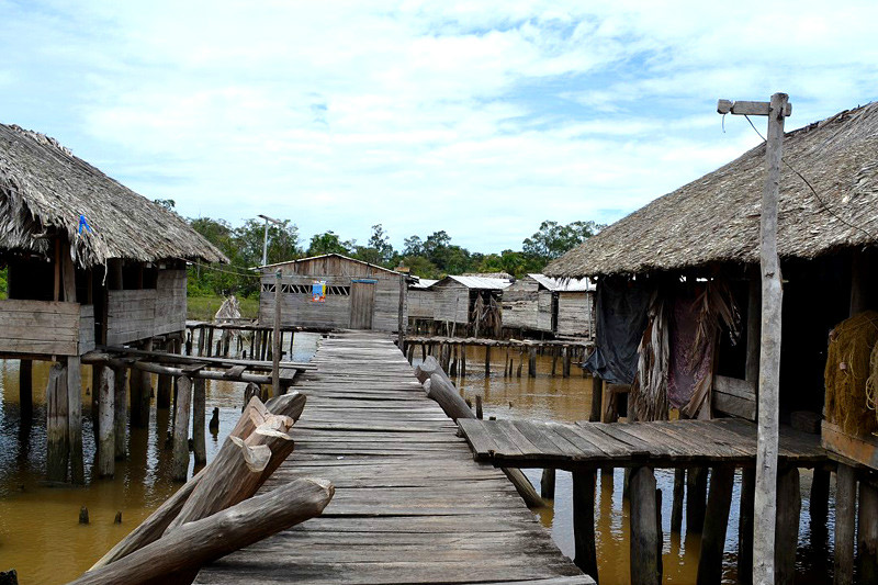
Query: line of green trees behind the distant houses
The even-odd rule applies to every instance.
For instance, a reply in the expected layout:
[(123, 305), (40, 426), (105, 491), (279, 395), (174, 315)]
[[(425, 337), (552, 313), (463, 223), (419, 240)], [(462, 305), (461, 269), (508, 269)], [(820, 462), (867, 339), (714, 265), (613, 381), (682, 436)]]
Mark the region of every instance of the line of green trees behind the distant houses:
[[(173, 207), (173, 202), (159, 201)], [(256, 295), (259, 292), (259, 273), (254, 268), (262, 263), (262, 243), (266, 225), (262, 220), (247, 220), (233, 227), (224, 220), (199, 217), (189, 224), (229, 259), (230, 265), (193, 266), (189, 286), (192, 295)], [(444, 230), (425, 237), (413, 235), (395, 249), (382, 224), (372, 226), (364, 244), (342, 239), (333, 230), (315, 234), (307, 245), (301, 241), (299, 228), (290, 220), (268, 225), (267, 262), (277, 263), (324, 254), (341, 254), (384, 268), (406, 267), (412, 274), (439, 279), (447, 274), (464, 272), (506, 272), (520, 278), (529, 272), (540, 272), (551, 260), (598, 233), (604, 225), (592, 221), (570, 224), (544, 221), (537, 232), (521, 243), (520, 250), (499, 254), (470, 251), (451, 241)]]

